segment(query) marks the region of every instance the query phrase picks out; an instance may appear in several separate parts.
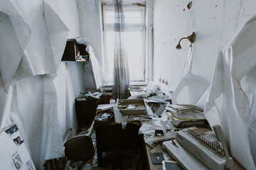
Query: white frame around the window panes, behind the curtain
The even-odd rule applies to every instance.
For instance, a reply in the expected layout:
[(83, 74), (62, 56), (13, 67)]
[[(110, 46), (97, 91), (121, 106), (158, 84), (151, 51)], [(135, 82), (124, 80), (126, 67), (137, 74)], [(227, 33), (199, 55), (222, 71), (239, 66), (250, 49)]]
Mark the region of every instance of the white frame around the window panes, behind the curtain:
[[(131, 80), (131, 84), (144, 84), (147, 81), (146, 78), (146, 6), (124, 5), (124, 10), (142, 10), (142, 23), (127, 23), (127, 30), (141, 30), (142, 31), (142, 74), (143, 78), (140, 80)], [(104, 72), (107, 74), (107, 58), (105, 55), (106, 49), (106, 31), (114, 31), (114, 23), (105, 23), (107, 11), (113, 11), (114, 6), (112, 4), (102, 4), (102, 35), (103, 35), (103, 62)], [(112, 80), (108, 79), (107, 84), (112, 84)]]

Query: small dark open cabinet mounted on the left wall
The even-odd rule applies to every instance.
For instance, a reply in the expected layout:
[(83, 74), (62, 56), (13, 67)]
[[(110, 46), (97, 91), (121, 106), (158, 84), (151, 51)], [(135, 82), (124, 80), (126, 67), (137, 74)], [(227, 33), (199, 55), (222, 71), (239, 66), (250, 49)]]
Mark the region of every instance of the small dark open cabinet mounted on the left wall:
[(61, 61), (86, 61), (89, 60), (90, 55), (85, 51), (86, 45), (79, 44), (75, 39), (67, 40), (65, 51)]

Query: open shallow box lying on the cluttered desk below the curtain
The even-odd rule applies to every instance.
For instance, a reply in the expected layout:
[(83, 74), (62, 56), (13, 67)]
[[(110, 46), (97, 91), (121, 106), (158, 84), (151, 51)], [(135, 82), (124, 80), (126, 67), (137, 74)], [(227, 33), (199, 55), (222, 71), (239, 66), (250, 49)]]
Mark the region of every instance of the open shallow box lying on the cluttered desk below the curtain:
[[(122, 106), (122, 107), (121, 107)], [(122, 115), (146, 115), (146, 102), (139, 99), (117, 99), (117, 108)]]

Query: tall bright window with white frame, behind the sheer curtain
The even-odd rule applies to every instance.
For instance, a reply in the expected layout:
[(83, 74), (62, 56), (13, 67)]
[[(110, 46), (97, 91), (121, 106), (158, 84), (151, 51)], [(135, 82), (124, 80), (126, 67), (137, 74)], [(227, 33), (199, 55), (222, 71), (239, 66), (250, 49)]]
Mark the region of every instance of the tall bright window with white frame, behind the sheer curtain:
[[(104, 5), (103, 39), (105, 74), (112, 81), (114, 69), (114, 6)], [(145, 81), (145, 6), (124, 6), (127, 57), (131, 81)]]

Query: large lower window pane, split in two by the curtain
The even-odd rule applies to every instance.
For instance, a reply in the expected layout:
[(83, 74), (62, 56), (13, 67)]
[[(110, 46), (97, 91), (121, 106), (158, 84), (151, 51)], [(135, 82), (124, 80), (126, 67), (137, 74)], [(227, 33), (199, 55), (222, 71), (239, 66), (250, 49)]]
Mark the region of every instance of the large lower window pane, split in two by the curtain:
[[(124, 33), (127, 40), (127, 57), (131, 81), (144, 80), (144, 47), (142, 30)], [(105, 31), (105, 71), (108, 81), (112, 81), (114, 69), (114, 32)]]

